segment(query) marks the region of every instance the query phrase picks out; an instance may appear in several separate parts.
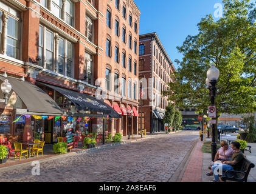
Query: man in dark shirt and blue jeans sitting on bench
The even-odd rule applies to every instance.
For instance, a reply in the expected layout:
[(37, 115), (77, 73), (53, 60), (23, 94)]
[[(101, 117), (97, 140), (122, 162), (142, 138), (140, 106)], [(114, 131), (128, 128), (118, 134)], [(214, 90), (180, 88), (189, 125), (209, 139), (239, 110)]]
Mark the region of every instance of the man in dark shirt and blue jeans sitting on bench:
[[(218, 170), (222, 170), (223, 172), (226, 172), (226, 170), (237, 170), (240, 169), (241, 161), (244, 159), (243, 152), (240, 150), (240, 143), (239, 142), (232, 142), (231, 148), (235, 151), (232, 159), (230, 161), (223, 161), (222, 163), (213, 163), (212, 164), (212, 172), (214, 175), (214, 179), (212, 182), (220, 182), (219, 175), (217, 172), (215, 172), (215, 169), (218, 167)], [(219, 172), (220, 173), (220, 172)]]

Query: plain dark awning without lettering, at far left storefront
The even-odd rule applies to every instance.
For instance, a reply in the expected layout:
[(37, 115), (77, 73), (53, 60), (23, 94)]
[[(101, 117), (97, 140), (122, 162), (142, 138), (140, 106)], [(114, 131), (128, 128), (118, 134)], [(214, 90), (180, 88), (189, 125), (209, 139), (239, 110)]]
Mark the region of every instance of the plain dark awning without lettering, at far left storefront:
[[(0, 77), (0, 79), (4, 82), (5, 78)], [(27, 115), (63, 115), (63, 111), (54, 99), (50, 98), (47, 93), (36, 85), (12, 77), (6, 79), (8, 79), (9, 83), (12, 85), (12, 90), (26, 105), (27, 110), (24, 113)]]

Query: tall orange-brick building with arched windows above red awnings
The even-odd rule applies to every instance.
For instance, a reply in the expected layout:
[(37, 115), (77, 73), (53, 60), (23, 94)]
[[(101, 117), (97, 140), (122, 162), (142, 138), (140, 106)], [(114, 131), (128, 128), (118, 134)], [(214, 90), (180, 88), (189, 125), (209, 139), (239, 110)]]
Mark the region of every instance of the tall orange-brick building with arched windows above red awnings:
[[(105, 2), (105, 1), (104, 1)], [(139, 19), (140, 11), (132, 0), (107, 0), (103, 4), (103, 62), (99, 78), (105, 78), (106, 100), (122, 119), (108, 122), (108, 130), (124, 136), (137, 133), (139, 93)], [(104, 84), (103, 84), (104, 85)], [(128, 118), (131, 112), (132, 117)], [(130, 121), (129, 121), (130, 119)], [(130, 125), (129, 125), (130, 122)]]

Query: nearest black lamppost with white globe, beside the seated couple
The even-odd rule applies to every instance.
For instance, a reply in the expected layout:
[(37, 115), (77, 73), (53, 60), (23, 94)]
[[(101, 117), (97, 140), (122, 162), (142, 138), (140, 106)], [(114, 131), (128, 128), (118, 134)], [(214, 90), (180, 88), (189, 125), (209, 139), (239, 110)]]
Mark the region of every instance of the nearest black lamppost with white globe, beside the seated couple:
[[(212, 64), (210, 69), (207, 72), (207, 79), (206, 79), (206, 85), (208, 86), (208, 89), (210, 90), (210, 102), (211, 105), (215, 105), (215, 97), (216, 97), (216, 83), (218, 81), (218, 78), (220, 77), (220, 71), (215, 67), (215, 64)], [(215, 110), (216, 112), (216, 110)], [(216, 118), (212, 118), (215, 120)], [(212, 124), (212, 161), (214, 161), (215, 155), (216, 155), (216, 139), (215, 139), (215, 130), (216, 130), (216, 124)]]

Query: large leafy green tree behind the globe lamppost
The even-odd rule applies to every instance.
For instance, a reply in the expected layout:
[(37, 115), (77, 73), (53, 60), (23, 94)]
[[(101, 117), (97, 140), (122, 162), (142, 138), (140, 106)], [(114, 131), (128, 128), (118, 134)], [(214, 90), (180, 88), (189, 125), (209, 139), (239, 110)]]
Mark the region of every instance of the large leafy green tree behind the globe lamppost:
[(202, 18), (198, 35), (177, 47), (184, 55), (164, 95), (178, 107), (203, 111), (210, 105), (206, 73), (220, 70), (216, 85), (217, 118), (221, 113), (251, 113), (256, 109), (256, 8), (249, 0), (223, 0), (223, 18)]

